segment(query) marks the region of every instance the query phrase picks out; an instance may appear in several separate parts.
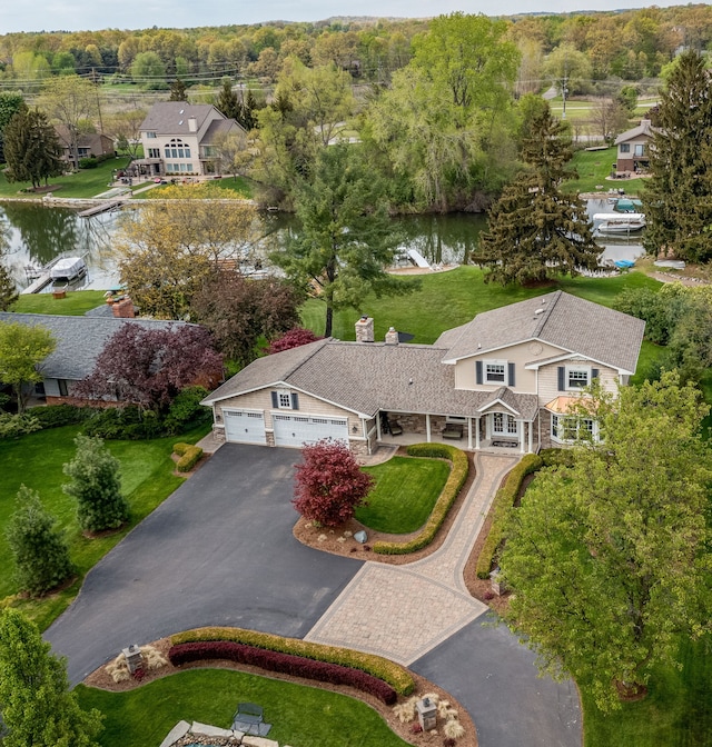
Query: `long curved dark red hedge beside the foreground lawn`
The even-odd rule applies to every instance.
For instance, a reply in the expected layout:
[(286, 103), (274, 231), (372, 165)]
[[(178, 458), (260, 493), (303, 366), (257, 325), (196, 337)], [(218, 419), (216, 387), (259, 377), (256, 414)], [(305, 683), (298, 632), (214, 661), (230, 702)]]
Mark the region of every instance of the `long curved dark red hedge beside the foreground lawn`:
[(382, 679), (367, 675), (360, 669), (343, 667), (328, 661), (316, 661), (303, 656), (270, 651), (256, 646), (246, 646), (230, 640), (214, 640), (196, 644), (178, 644), (168, 651), (171, 664), (179, 666), (187, 661), (205, 661), (207, 659), (227, 659), (238, 664), (248, 664), (267, 671), (279, 671), (293, 677), (306, 677), (329, 685), (348, 685), (377, 697), (387, 706), (393, 706), (398, 696)]

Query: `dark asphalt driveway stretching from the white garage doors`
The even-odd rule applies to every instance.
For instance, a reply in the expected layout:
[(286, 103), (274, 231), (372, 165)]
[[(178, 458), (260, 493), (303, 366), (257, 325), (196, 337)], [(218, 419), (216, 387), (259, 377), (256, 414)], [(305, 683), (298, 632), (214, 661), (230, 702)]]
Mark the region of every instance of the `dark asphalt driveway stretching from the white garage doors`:
[(227, 444), (111, 550), (46, 635), (71, 681), (129, 644), (202, 625), (306, 635), (362, 564), (291, 536), (298, 459)]

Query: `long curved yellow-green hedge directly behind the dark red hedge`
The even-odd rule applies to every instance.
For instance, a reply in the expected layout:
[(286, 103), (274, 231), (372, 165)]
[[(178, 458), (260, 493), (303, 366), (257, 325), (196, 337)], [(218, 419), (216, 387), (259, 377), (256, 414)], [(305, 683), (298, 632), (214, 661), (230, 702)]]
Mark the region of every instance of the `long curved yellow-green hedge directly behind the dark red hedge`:
[(205, 641), (233, 641), (281, 654), (293, 654), (315, 661), (338, 664), (384, 680), (399, 695), (411, 695), (415, 689), (411, 673), (400, 665), (374, 654), (364, 654), (349, 648), (312, 644), (298, 638), (285, 638), (243, 628), (197, 628), (179, 633), (170, 638), (174, 646)]

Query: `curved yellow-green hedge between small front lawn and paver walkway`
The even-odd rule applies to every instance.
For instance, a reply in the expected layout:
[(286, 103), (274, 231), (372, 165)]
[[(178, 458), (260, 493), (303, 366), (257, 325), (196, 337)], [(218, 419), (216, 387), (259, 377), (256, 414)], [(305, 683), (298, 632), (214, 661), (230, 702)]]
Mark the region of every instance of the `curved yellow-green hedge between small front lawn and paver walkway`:
[(467, 455), (454, 446), (449, 446), (448, 444), (415, 444), (407, 448), (407, 454), (411, 457), (448, 459), (452, 464), (449, 477), (423, 529), (407, 542), (375, 542), (374, 552), (380, 552), (382, 555), (407, 555), (408, 552), (415, 552), (427, 547), (435, 538), (437, 530), (443, 526), (443, 521), (445, 521), (449, 509), (467, 479), (469, 471)]

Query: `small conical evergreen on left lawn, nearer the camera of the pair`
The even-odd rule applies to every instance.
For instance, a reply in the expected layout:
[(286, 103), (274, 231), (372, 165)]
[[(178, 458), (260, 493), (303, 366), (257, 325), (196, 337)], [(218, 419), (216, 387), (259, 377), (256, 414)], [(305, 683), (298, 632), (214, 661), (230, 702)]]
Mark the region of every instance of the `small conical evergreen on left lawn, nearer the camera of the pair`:
[(67, 541), (55, 529), (56, 522), (37, 491), (21, 486), (18, 510), (10, 517), (6, 535), (14, 557), (16, 582), (33, 597), (56, 588), (75, 572)]

